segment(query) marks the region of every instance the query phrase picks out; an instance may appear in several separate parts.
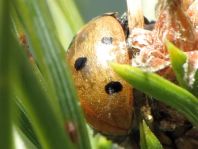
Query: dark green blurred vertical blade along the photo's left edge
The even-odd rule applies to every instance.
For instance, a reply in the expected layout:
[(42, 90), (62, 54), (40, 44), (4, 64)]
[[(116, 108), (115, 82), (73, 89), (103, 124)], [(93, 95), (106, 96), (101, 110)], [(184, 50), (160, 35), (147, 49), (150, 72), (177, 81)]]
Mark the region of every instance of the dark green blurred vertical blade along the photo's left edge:
[(10, 1), (0, 1), (0, 148), (10, 149), (12, 142), (12, 106), (10, 61), (13, 50), (10, 28)]

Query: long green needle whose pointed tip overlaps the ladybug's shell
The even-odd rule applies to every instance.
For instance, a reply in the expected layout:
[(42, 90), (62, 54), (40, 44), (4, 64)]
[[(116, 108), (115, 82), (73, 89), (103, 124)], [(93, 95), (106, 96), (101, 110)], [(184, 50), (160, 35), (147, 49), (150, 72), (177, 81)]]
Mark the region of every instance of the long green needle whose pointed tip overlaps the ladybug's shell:
[(177, 109), (198, 126), (198, 99), (190, 92), (154, 73), (129, 65), (112, 63), (111, 66), (133, 87)]

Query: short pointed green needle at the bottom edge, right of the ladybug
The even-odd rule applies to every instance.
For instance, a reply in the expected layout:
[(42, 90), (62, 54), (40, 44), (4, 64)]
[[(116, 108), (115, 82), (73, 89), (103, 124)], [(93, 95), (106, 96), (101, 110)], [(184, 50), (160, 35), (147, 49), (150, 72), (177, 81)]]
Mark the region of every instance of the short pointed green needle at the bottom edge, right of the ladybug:
[(141, 149), (163, 149), (161, 143), (145, 121), (140, 124), (140, 147)]

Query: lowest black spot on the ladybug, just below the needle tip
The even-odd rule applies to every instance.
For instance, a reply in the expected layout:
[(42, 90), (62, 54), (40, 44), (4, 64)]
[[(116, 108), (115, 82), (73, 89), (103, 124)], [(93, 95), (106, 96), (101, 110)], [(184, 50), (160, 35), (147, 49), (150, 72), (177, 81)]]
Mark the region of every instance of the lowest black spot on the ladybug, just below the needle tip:
[(118, 81), (111, 81), (105, 85), (105, 91), (107, 94), (113, 94), (122, 90), (122, 84)]

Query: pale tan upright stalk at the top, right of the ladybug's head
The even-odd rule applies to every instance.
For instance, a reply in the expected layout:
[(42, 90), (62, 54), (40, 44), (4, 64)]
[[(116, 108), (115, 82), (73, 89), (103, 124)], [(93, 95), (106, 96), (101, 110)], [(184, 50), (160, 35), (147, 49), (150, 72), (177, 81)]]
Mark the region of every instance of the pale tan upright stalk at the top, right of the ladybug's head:
[(128, 26), (129, 33), (135, 27), (144, 27), (144, 15), (142, 11), (142, 1), (141, 0), (126, 0), (128, 8)]

